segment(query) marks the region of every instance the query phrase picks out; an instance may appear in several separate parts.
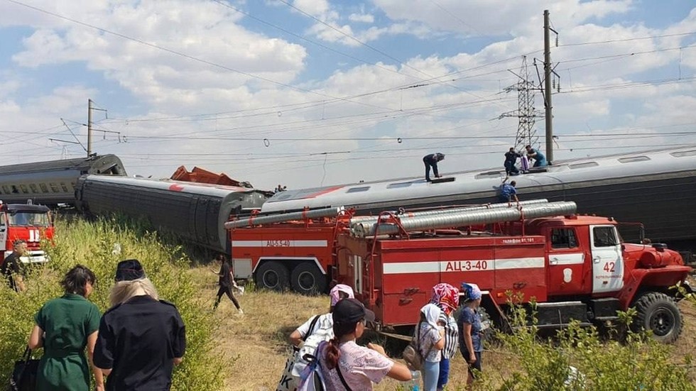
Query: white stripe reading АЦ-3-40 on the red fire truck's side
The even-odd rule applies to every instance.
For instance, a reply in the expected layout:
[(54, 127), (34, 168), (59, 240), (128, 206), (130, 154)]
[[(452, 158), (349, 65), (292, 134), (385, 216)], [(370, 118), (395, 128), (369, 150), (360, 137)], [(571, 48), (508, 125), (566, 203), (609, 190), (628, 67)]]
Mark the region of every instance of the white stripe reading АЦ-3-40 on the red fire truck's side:
[(482, 260), (442, 260), (429, 262), (385, 263), (384, 274), (436, 273), (436, 272), (481, 272), (484, 270), (538, 269), (543, 268), (545, 259), (506, 258)]

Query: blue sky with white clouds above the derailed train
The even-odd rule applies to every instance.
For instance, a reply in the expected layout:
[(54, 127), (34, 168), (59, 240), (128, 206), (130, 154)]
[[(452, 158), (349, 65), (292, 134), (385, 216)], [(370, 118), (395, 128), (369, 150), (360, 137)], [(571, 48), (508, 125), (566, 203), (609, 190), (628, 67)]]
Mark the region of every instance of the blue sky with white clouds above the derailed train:
[(696, 1), (0, 0), (0, 165), (86, 156), (92, 99), (129, 175), (502, 167), (523, 59), (545, 150), (545, 9), (555, 161), (696, 144)]

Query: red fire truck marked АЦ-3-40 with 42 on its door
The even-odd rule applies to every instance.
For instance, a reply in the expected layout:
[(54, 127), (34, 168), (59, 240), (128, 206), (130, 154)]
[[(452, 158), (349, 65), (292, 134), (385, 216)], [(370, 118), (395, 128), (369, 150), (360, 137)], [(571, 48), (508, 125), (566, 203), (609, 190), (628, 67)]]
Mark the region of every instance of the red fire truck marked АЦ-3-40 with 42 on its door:
[(337, 282), (354, 287), (380, 327), (415, 324), (433, 285), (468, 282), (484, 291), (482, 306), (501, 324), (511, 294), (521, 294), (535, 302), (541, 328), (573, 319), (589, 325), (636, 307), (636, 324), (675, 341), (682, 316), (670, 287), (684, 283), (691, 268), (663, 245), (622, 243), (617, 226), (571, 214), (496, 224), (489, 232), (342, 234)]

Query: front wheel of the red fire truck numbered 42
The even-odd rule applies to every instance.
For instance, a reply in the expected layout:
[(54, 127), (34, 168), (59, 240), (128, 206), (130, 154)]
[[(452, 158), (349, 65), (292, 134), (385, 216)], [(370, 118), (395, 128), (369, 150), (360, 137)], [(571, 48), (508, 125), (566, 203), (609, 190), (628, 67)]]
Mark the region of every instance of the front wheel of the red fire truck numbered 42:
[(683, 318), (674, 300), (664, 293), (648, 292), (636, 300), (634, 326), (653, 332), (662, 343), (673, 343), (682, 332)]

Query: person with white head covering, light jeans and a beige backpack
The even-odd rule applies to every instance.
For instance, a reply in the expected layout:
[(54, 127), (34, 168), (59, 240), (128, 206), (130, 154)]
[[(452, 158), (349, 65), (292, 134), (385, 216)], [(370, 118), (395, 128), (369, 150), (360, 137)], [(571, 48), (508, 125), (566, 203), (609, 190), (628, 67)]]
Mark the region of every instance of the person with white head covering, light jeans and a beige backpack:
[(445, 324), (440, 319), (442, 310), (435, 304), (425, 304), (420, 309), (418, 322), (418, 348), (423, 356), (423, 391), (436, 391), (440, 375), (442, 348), (445, 348)]

